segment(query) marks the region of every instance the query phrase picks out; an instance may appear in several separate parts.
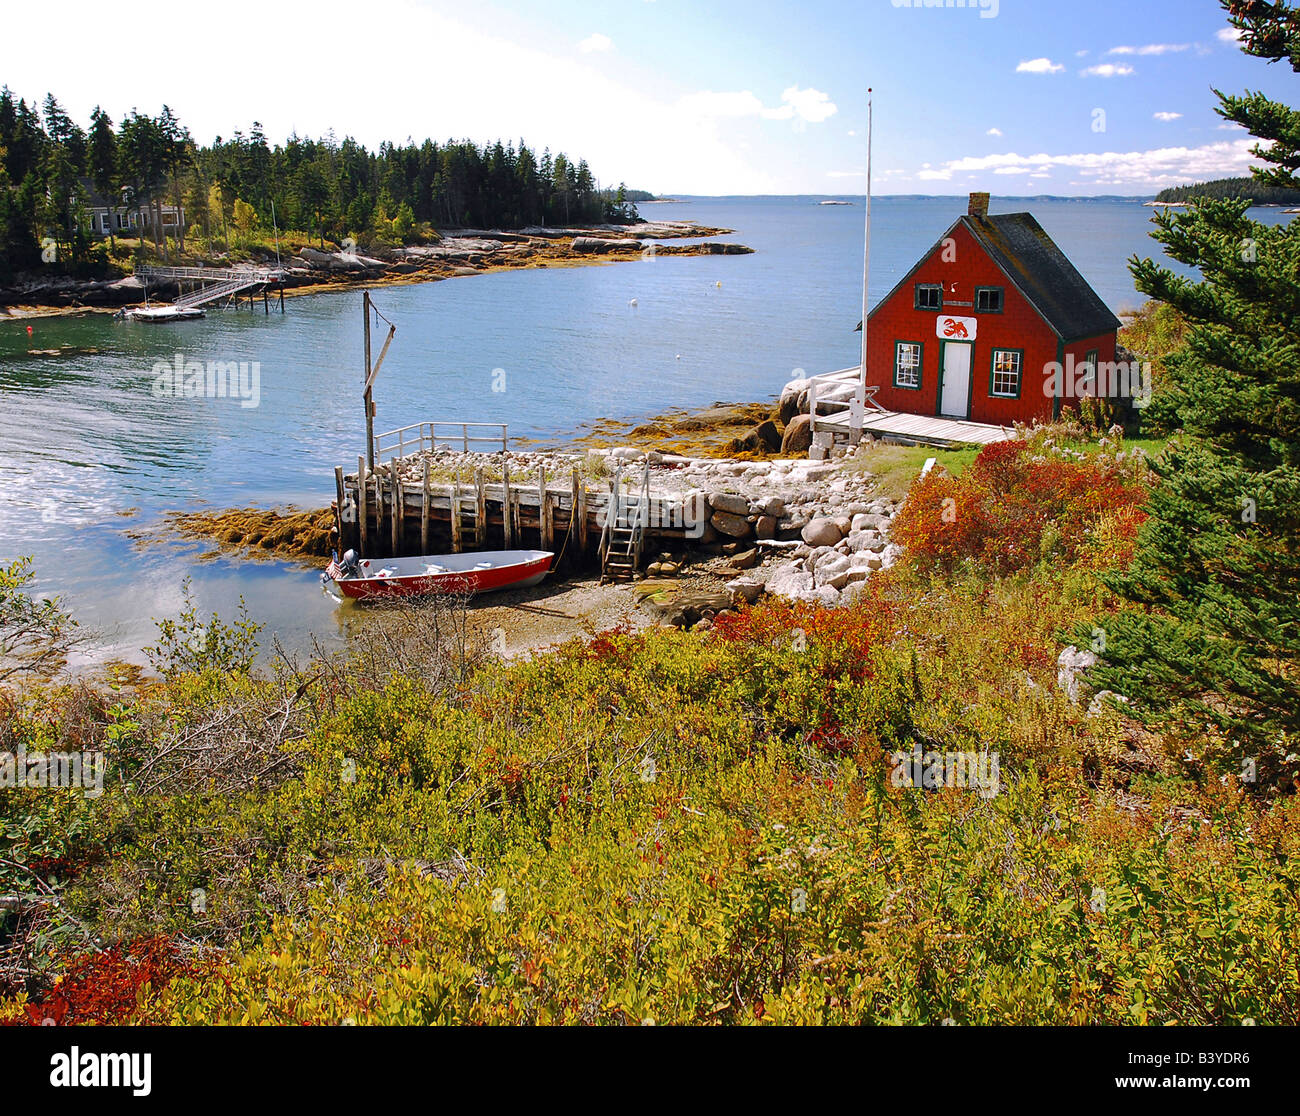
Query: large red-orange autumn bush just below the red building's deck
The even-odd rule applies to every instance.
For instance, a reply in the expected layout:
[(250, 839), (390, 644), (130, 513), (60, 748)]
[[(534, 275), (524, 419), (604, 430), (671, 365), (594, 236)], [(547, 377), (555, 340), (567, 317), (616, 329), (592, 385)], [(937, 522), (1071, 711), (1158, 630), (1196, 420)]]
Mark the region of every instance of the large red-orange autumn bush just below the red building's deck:
[(1109, 458), (1036, 454), (994, 442), (961, 477), (932, 472), (913, 485), (892, 535), (923, 567), (962, 561), (1010, 574), (1045, 559), (1076, 562), (1098, 524), (1121, 549), (1145, 519), (1144, 486)]

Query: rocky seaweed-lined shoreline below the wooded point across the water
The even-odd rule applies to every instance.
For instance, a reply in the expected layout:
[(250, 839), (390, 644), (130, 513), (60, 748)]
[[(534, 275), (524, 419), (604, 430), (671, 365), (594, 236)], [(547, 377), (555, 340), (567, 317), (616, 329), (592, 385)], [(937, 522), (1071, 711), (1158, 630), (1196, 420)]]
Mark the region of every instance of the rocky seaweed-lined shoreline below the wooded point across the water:
[[(283, 260), (285, 294), (313, 294), (356, 286), (437, 282), (516, 268), (584, 267), (644, 259), (647, 255), (748, 255), (745, 245), (707, 239), (731, 229), (696, 225), (690, 221), (641, 221), (636, 225), (584, 228), (447, 229), (433, 245), (376, 251), (370, 255), (318, 251), (303, 246)], [(696, 241), (667, 245), (662, 241)], [(187, 265), (192, 261), (185, 261)], [(250, 264), (273, 267), (273, 259), (231, 260), (214, 258), (211, 267)], [(174, 284), (151, 284), (150, 294), (170, 298)], [(118, 310), (144, 298), (144, 285), (135, 276), (112, 280), (75, 280), (66, 276), (27, 276), (0, 286), (0, 319), (38, 317)]]

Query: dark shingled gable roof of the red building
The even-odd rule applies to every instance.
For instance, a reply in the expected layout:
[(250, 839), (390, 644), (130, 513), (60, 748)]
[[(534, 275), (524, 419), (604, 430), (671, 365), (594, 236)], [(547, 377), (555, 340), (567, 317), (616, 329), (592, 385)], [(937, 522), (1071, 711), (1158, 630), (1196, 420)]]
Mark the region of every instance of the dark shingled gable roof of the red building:
[(872, 316), (962, 224), (1062, 341), (1112, 333), (1122, 325), (1031, 213), (961, 217), (898, 286), (876, 303)]

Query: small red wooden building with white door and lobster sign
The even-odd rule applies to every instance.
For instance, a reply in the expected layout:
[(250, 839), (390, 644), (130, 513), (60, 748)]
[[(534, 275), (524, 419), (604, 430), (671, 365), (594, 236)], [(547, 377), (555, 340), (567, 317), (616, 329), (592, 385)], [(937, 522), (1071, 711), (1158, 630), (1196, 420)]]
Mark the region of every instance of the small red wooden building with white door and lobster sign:
[(1119, 320), (1032, 216), (991, 217), (988, 196), (871, 311), (866, 380), (887, 410), (1045, 420), (1070, 402), (1057, 367), (1115, 359)]

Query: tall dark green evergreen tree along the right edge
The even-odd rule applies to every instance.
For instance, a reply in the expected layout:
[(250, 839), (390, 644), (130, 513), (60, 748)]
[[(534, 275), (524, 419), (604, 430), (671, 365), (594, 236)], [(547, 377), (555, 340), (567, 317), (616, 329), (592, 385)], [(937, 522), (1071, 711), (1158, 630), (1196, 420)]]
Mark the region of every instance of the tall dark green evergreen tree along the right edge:
[[(1292, 9), (1225, 7), (1247, 51), (1300, 68)], [(1260, 177), (1295, 186), (1296, 114), (1257, 95), (1219, 101), (1274, 142)], [(1300, 770), (1300, 229), (1247, 208), (1201, 200), (1156, 219), (1154, 238), (1199, 282), (1132, 261), (1138, 287), (1192, 329), (1166, 359), (1182, 433), (1154, 463), (1131, 567), (1106, 578), (1130, 607), (1095, 676), (1149, 721), (1208, 736), (1244, 778), (1277, 782)]]

